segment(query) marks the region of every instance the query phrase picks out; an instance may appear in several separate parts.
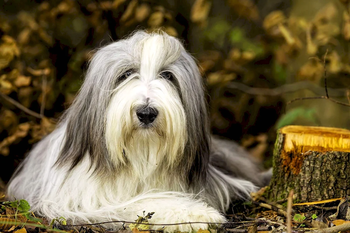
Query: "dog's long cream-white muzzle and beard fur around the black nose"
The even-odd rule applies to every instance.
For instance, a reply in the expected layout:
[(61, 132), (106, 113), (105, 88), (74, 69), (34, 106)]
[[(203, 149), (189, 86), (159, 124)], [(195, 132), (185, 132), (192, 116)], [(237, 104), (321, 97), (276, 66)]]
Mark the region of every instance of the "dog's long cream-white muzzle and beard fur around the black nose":
[[(156, 119), (142, 123), (136, 111), (149, 106)], [(187, 142), (186, 114), (174, 85), (164, 79), (145, 83), (130, 77), (112, 92), (106, 119), (106, 144), (111, 160), (131, 166), (142, 177), (157, 168), (172, 169)], [(145, 174), (145, 172), (147, 174)]]

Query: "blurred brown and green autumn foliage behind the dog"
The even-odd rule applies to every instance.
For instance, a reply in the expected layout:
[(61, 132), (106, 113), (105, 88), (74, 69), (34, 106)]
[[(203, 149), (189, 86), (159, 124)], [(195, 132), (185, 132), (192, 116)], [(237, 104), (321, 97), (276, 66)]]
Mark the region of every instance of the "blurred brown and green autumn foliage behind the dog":
[[(5, 0), (0, 9), (0, 177), (55, 128), (93, 50), (162, 28), (198, 59), (212, 132), (271, 165), (276, 129), (350, 128), (348, 0)], [(324, 59), (324, 55), (327, 56)], [(325, 64), (323, 63), (325, 61)], [(325, 69), (324, 69), (325, 68)]]

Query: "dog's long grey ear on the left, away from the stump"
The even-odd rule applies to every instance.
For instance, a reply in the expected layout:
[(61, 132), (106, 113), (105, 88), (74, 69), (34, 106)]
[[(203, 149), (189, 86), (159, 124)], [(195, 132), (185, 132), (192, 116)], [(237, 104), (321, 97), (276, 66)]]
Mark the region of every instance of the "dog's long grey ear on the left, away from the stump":
[[(109, 103), (110, 80), (104, 69), (103, 52), (97, 51), (86, 72), (72, 105), (62, 117), (61, 127), (65, 127), (65, 138), (55, 165), (74, 168), (90, 156), (91, 166), (110, 170), (110, 161), (104, 140), (105, 114)], [(112, 77), (110, 77), (112, 79)]]

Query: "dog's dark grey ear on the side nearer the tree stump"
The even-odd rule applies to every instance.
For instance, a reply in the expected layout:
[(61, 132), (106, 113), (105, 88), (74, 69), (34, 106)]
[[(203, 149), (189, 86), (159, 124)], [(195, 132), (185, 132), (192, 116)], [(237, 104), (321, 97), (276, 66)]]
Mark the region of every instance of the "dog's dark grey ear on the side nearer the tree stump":
[[(185, 71), (180, 80), (181, 96), (187, 118), (188, 142), (184, 162), (189, 183), (205, 180), (210, 153), (210, 123), (203, 80), (194, 58), (183, 52), (179, 59)], [(189, 88), (190, 87), (190, 88)]]

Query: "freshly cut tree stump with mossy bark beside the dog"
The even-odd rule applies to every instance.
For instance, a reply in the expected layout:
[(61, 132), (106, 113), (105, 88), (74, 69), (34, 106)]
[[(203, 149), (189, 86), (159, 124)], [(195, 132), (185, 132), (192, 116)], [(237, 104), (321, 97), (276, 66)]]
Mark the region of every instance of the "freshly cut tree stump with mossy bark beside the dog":
[(270, 200), (294, 189), (294, 203), (350, 195), (350, 130), (286, 126), (278, 130)]

